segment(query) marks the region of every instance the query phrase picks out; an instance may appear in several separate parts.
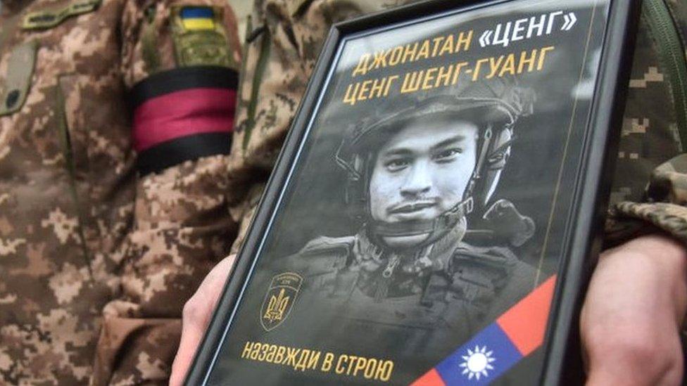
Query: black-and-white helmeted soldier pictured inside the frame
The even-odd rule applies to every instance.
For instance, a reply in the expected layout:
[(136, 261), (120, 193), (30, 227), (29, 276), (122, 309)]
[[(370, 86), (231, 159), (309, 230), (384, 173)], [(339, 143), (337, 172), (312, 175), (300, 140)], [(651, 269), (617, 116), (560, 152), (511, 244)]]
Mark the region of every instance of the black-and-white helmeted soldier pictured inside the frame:
[[(467, 338), (534, 285), (536, 270), (510, 250), (534, 222), (508, 200), (491, 202), (534, 93), (496, 78), (389, 102), (354, 124), (336, 152), (360, 229), (278, 259), (277, 271), (303, 276), (303, 311), (294, 304), (292, 317), (322, 305), (368, 326)], [(510, 242), (466, 243), (470, 214), (490, 220), (492, 233), (505, 229)]]

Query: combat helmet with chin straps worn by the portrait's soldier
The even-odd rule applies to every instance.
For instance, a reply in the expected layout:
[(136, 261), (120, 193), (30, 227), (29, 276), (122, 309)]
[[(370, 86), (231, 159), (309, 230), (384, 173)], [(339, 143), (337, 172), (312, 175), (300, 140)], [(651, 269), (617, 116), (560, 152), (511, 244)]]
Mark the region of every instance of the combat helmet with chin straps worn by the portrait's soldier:
[[(391, 98), (380, 112), (348, 128), (336, 153), (336, 162), (346, 171), (346, 205), (365, 223), (370, 236), (411, 236), (428, 233), (423, 245), (434, 242), (475, 210), (484, 210), (500, 174), (508, 162), (519, 117), (530, 115), (534, 93), (518, 86), (513, 78), (493, 78), (459, 84), (433, 94), (411, 94)], [(382, 223), (370, 215), (370, 178), (376, 150), (394, 129), (425, 117), (455, 117), (477, 124), (477, 160), (462, 200), (433, 221)]]

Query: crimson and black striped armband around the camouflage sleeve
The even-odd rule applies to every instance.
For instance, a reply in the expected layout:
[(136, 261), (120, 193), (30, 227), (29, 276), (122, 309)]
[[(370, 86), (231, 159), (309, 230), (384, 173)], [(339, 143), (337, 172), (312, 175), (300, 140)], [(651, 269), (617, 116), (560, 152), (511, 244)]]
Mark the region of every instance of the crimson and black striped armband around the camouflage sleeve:
[(226, 67), (159, 72), (132, 89), (132, 141), (141, 175), (229, 154), (238, 74)]

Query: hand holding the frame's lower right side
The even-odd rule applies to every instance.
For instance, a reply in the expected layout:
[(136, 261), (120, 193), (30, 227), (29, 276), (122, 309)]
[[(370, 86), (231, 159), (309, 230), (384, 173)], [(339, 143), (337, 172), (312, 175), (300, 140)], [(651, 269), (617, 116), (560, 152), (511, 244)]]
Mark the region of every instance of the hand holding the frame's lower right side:
[(679, 385), (687, 252), (642, 236), (603, 252), (580, 316), (588, 385)]

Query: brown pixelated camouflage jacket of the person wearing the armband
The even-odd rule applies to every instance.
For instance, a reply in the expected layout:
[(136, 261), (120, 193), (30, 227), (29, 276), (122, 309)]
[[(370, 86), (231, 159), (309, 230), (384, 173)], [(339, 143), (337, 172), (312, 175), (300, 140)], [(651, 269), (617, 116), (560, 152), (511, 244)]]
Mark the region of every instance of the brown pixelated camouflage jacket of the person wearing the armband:
[[(165, 98), (179, 95), (186, 112), (208, 108), (179, 80), (197, 65), (234, 72), (235, 87), (234, 15), (221, 0), (3, 2), (0, 384), (167, 382), (183, 304), (236, 226), (228, 139), (225, 150), (179, 147), (194, 132), (160, 111), (175, 112)], [(215, 92), (230, 96), (231, 83)], [(230, 138), (233, 103), (221, 102), (209, 109), (229, 127), (215, 139)], [(165, 137), (156, 120), (184, 136)]]

